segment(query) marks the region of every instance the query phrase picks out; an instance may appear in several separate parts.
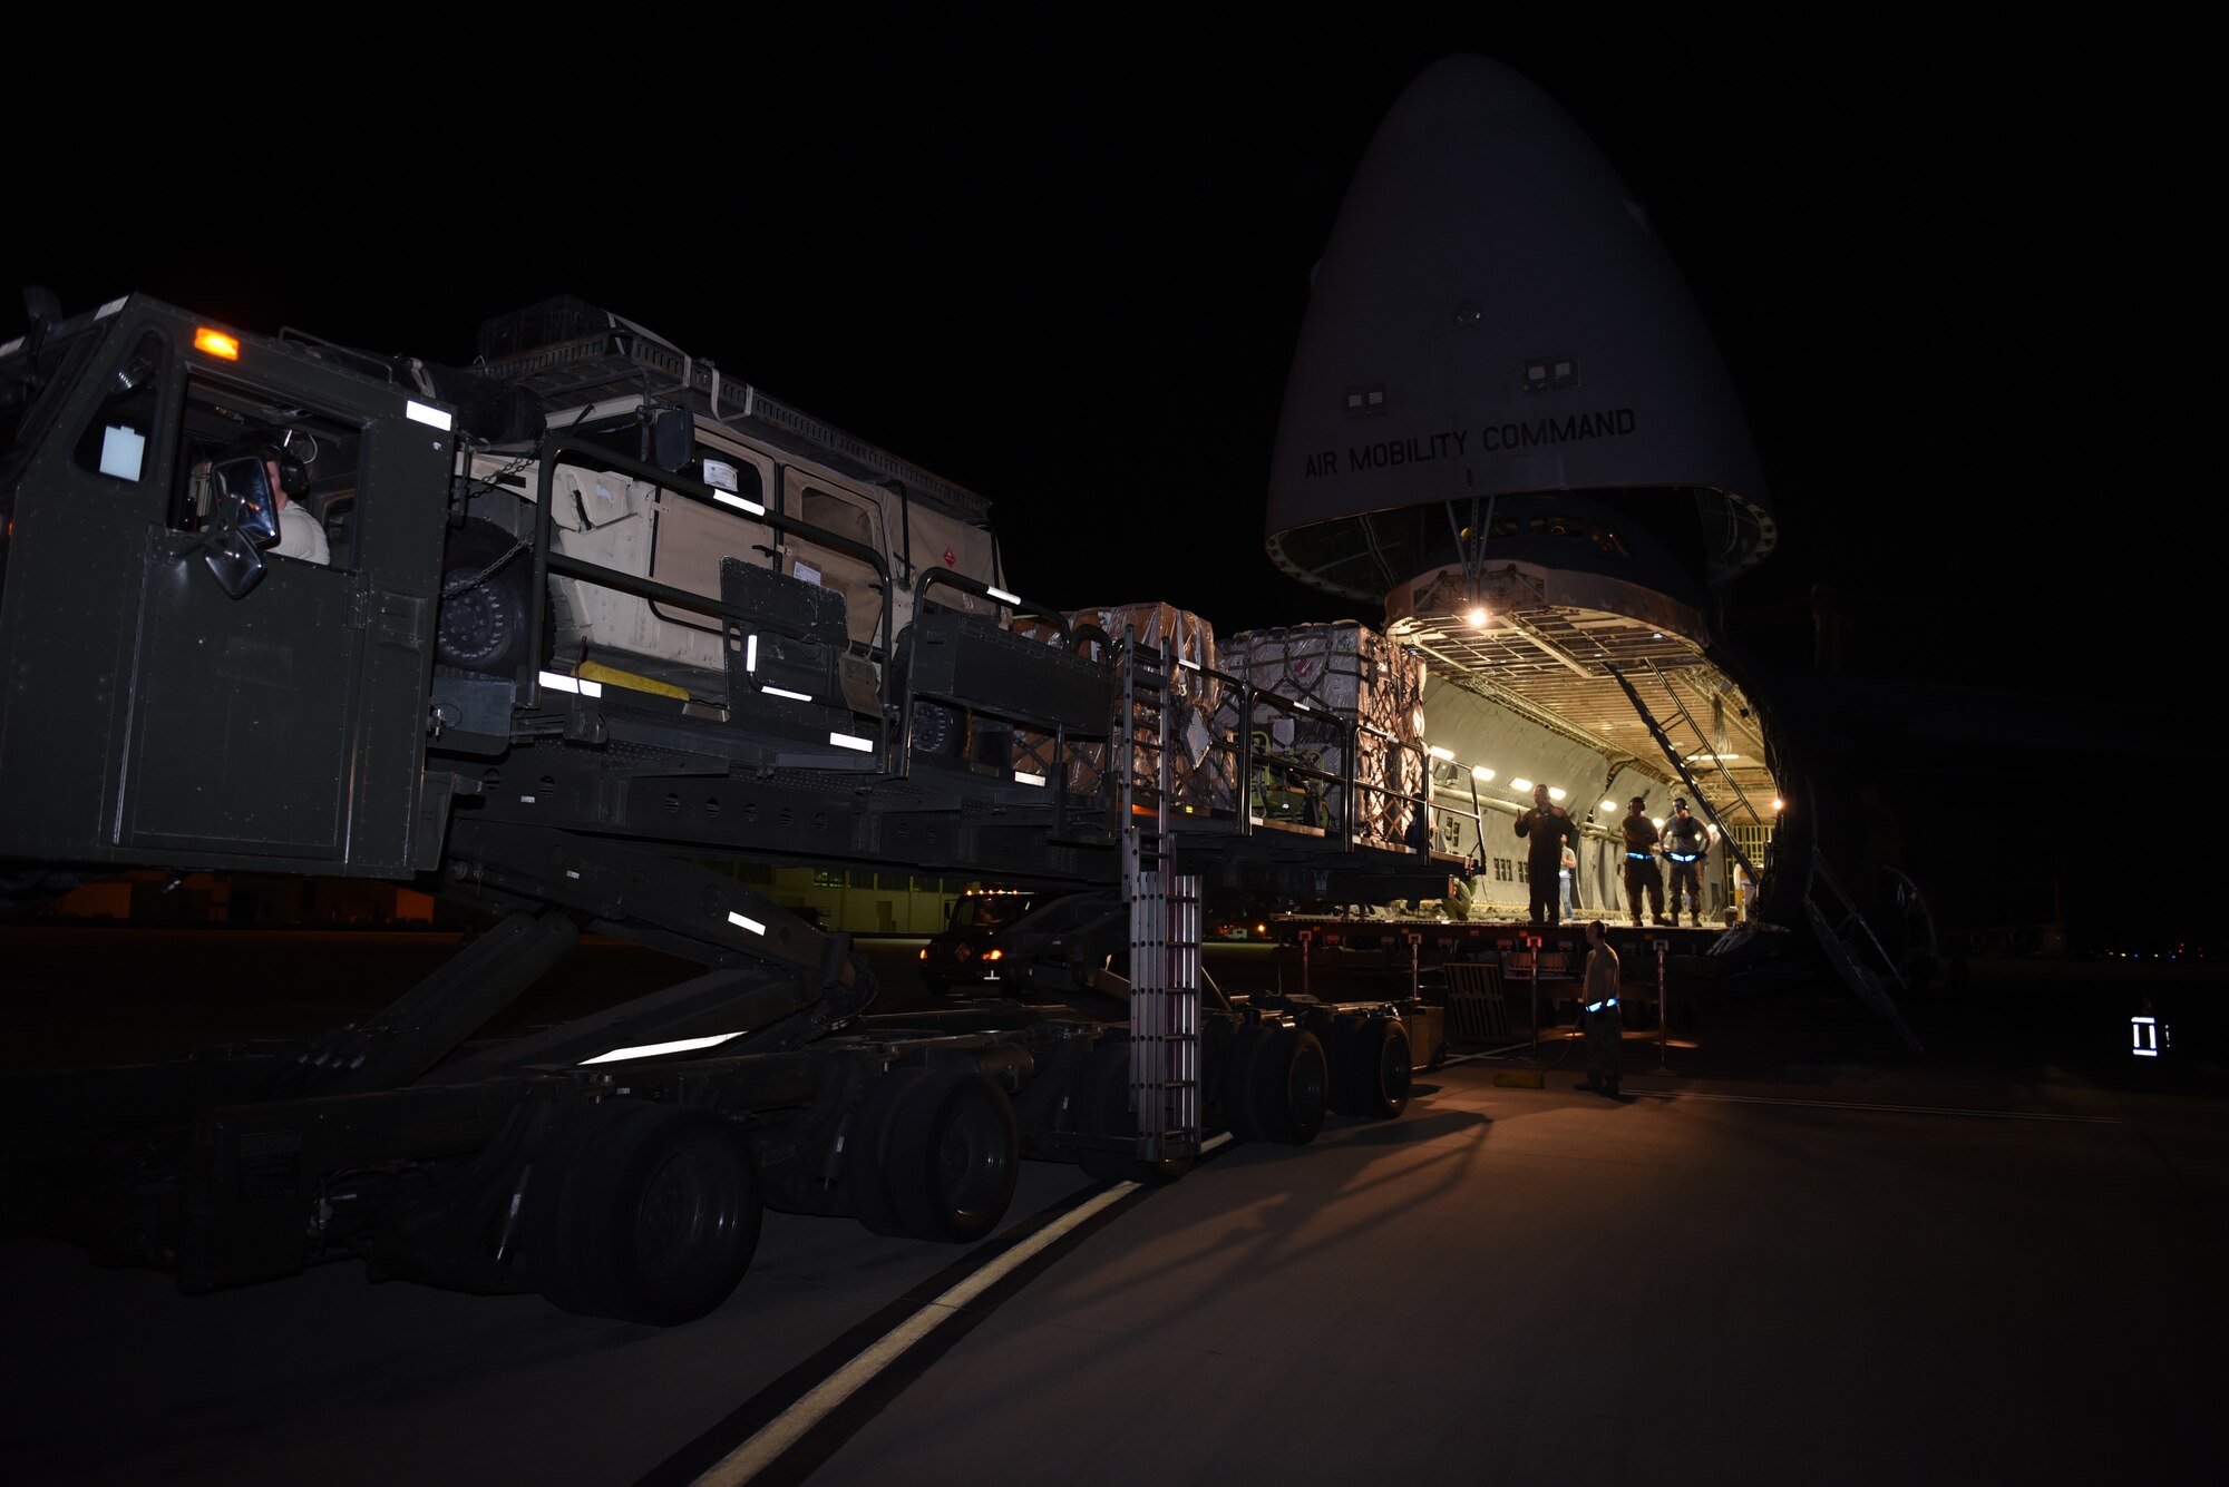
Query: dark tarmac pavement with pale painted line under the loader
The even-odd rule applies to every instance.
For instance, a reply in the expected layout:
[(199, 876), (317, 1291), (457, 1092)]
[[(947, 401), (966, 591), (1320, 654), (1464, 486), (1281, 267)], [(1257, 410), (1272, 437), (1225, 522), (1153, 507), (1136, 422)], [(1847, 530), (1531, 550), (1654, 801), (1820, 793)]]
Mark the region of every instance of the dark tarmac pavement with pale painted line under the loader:
[[(366, 955), (288, 964), (330, 999)], [(2144, 1004), (2171, 1060), (2129, 1053)], [(753, 1480), (2211, 1483), (2218, 1013), (2218, 977), (1986, 966), (1915, 1008), (1915, 1055), (1823, 986), (1627, 1033), (1623, 1100), (1576, 1089), (1576, 1044), (1456, 1048), (1393, 1122), (1117, 1198)], [(736, 1298), (664, 1331), (354, 1264), (181, 1298), (11, 1238), (0, 1471), (695, 1480), (1097, 1195), (1025, 1164), (979, 1249), (769, 1215)]]

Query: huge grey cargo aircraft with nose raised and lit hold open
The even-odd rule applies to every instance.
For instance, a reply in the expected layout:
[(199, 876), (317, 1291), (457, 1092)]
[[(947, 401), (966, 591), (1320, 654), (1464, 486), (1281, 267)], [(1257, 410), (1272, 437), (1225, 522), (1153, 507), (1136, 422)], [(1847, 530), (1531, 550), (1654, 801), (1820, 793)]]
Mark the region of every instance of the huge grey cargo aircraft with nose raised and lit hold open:
[[(1583, 917), (1625, 917), (1625, 801), (1665, 817), (1687, 797), (1721, 873), (1761, 879), (1759, 928), (1719, 948), (1812, 930), (1901, 1026), (1908, 946), (1859, 915), (1852, 893), (1870, 906), (1875, 884), (1843, 893), (1819, 859), (1826, 806), (1714, 628), (1723, 585), (1774, 541), (1734, 385), (1618, 174), (1516, 71), (1476, 56), (1427, 69), (1369, 145), (1315, 272), (1268, 552), (1384, 603), (1389, 634), (1422, 654), (1435, 792), (1516, 813), (1525, 775), (1558, 781), (1587, 824)], [(1440, 846), (1485, 866), (1522, 857), (1509, 835), (1489, 817), (1482, 841)]]

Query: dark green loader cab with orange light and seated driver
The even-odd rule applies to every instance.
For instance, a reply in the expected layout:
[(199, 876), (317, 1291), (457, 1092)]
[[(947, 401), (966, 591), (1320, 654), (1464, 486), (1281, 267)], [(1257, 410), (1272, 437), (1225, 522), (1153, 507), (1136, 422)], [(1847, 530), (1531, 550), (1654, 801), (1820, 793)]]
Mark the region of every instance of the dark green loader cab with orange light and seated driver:
[(0, 343), (0, 857), (428, 866), (450, 418), (143, 296)]

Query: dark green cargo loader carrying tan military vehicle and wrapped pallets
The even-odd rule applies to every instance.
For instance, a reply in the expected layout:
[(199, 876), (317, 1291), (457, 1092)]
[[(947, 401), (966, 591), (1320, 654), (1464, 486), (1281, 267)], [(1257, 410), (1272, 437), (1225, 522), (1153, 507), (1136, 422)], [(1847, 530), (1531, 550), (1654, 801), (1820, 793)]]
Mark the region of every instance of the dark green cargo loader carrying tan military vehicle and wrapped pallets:
[[(473, 370), (145, 296), (27, 309), (0, 875), (388, 879), (499, 919), (350, 1026), (9, 1077), (11, 1222), (185, 1291), (359, 1258), (675, 1324), (769, 1207), (970, 1242), (1023, 1158), (1161, 1182), (1208, 1131), (1393, 1115), (1433, 1060), (1435, 1008), (1199, 964), (1213, 902), (1460, 870), (1420, 737), (1219, 668), (1168, 605), (1014, 592), (972, 492), (577, 301), (486, 323)], [(1340, 746), (1264, 759), (1295, 719)], [(1306, 821), (1242, 788), (1271, 764)], [(1048, 906), (1010, 995), (876, 1013), (849, 937), (751, 864)], [(702, 973), (486, 1035), (582, 933)]]

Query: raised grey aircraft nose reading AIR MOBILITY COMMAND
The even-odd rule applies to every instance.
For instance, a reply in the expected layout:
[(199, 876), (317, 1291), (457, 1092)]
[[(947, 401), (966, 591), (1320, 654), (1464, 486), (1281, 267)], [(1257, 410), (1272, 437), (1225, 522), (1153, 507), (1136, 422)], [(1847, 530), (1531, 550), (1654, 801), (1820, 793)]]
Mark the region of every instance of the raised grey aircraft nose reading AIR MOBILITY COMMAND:
[(1732, 378), (1647, 211), (1547, 93), (1444, 58), (1386, 114), (1317, 267), (1271, 552), (1324, 581), (1364, 514), (1569, 490), (1694, 512), (1698, 581), (1772, 545)]

